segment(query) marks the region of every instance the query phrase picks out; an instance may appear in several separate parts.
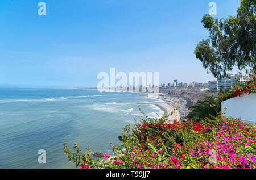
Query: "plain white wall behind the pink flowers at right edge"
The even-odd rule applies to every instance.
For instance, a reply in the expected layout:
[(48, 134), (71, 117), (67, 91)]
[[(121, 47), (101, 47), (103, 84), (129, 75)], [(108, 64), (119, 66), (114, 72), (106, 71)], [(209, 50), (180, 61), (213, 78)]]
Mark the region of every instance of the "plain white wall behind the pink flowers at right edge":
[(243, 94), (241, 97), (234, 97), (221, 102), (222, 111), (225, 111), (225, 116), (232, 118), (241, 118), (242, 120), (256, 120), (256, 94)]

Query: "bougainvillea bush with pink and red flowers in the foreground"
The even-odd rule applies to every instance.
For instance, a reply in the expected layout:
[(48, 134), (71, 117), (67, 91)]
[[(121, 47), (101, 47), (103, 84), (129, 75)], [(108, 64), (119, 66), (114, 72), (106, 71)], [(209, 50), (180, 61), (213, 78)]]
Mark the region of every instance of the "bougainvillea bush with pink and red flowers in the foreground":
[(123, 128), (120, 146), (113, 154), (94, 160), (64, 142), (64, 153), (79, 168), (255, 168), (255, 124), (218, 116), (202, 122), (167, 122), (167, 116), (150, 119), (144, 114), (131, 128)]

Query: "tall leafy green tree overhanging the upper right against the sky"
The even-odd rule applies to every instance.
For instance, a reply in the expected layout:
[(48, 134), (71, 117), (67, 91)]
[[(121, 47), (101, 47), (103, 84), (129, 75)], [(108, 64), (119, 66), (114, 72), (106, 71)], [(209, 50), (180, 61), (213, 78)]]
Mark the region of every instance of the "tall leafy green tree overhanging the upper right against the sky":
[(256, 70), (256, 0), (241, 0), (237, 15), (214, 19), (204, 15), (201, 21), (209, 31), (195, 49), (208, 73), (216, 78), (226, 77), (237, 66), (240, 70)]

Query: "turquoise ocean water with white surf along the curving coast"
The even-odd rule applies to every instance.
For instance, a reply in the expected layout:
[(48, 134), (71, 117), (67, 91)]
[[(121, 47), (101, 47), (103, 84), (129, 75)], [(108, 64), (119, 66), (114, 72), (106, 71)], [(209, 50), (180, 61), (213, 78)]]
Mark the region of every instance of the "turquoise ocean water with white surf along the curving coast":
[[(76, 168), (63, 154), (79, 143), (84, 152), (112, 153), (123, 126), (142, 116), (136, 103), (159, 103), (147, 94), (84, 89), (0, 89), (0, 168)], [(160, 111), (140, 105), (152, 118)], [(38, 150), (46, 150), (46, 164)]]

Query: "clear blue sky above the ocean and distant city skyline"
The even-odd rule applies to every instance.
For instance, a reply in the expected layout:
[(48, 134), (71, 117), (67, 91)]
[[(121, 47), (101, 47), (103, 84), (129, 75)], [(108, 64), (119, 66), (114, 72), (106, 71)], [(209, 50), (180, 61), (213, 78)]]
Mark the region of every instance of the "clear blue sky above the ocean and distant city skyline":
[[(97, 86), (97, 74), (159, 72), (159, 83), (214, 80), (196, 59), (208, 0), (0, 1), (0, 87)], [(214, 0), (235, 15), (238, 0)], [(236, 73), (236, 70), (234, 70)]]

